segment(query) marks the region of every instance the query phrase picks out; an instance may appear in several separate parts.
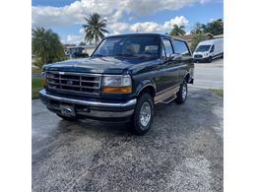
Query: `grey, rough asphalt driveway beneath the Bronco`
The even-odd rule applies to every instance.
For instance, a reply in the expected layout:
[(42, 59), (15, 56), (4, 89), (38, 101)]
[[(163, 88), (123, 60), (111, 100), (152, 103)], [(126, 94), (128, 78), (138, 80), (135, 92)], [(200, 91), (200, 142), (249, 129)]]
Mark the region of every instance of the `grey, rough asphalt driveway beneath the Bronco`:
[(145, 136), (32, 100), (32, 191), (223, 191), (223, 99), (201, 87), (158, 105)]

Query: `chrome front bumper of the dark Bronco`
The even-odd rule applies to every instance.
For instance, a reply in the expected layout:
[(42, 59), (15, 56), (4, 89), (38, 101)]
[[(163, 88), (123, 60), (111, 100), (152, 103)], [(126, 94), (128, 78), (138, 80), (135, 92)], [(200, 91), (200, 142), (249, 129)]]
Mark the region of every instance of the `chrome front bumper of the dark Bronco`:
[[(137, 99), (125, 102), (101, 102), (88, 99), (77, 99), (66, 96), (53, 96), (45, 90), (39, 92), (42, 102), (47, 108), (55, 113), (61, 113), (60, 104), (71, 104), (75, 107), (76, 115), (85, 117), (103, 118), (122, 118), (129, 117), (134, 113)], [(79, 107), (78, 107), (79, 106)], [(84, 107), (84, 108), (83, 108)]]

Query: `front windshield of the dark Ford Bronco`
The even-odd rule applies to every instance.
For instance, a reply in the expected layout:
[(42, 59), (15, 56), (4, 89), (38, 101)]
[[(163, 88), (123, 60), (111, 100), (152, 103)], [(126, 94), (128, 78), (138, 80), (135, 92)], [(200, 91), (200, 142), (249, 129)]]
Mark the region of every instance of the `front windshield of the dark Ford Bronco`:
[(160, 38), (157, 36), (117, 36), (104, 39), (93, 57), (159, 57)]

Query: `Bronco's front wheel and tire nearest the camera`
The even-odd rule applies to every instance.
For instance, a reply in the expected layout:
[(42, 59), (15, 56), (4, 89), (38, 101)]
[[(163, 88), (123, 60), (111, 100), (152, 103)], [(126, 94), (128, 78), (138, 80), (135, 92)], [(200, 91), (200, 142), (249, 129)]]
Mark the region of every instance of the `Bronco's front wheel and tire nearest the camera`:
[[(144, 113), (144, 120), (143, 120), (143, 113)], [(147, 114), (150, 116), (149, 118), (147, 117)], [(154, 115), (153, 97), (149, 94), (144, 94), (140, 96), (136, 104), (135, 111), (131, 121), (132, 132), (136, 135), (144, 135), (145, 133), (147, 133), (152, 126), (153, 115)]]

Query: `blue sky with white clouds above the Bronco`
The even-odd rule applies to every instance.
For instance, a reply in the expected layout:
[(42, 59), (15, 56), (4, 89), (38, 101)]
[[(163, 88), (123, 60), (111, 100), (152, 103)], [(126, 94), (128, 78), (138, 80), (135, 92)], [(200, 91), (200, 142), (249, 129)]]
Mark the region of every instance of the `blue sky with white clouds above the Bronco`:
[(173, 25), (189, 33), (196, 23), (224, 17), (223, 0), (32, 0), (32, 28), (57, 32), (63, 43), (84, 41), (82, 25), (92, 13), (107, 21), (107, 35), (170, 32)]

